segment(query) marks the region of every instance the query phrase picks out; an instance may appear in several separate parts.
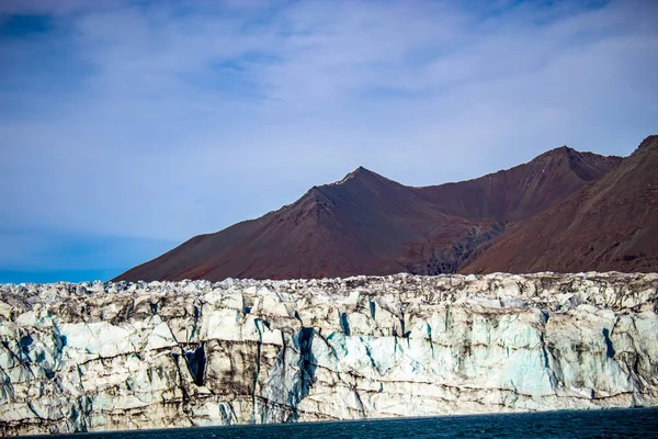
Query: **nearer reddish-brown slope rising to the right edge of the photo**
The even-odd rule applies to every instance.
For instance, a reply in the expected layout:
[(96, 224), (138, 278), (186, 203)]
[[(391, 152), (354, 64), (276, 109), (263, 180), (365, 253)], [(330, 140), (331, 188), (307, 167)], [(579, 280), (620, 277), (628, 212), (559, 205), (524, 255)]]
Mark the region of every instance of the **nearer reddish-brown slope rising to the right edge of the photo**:
[(658, 136), (612, 172), (484, 245), (461, 272), (658, 271)]

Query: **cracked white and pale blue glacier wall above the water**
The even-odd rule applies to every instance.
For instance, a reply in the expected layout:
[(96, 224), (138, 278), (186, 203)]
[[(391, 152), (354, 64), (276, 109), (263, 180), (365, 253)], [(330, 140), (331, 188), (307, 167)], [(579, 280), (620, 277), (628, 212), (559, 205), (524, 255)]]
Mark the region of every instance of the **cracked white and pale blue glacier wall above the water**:
[(3, 435), (656, 405), (658, 274), (0, 285)]

